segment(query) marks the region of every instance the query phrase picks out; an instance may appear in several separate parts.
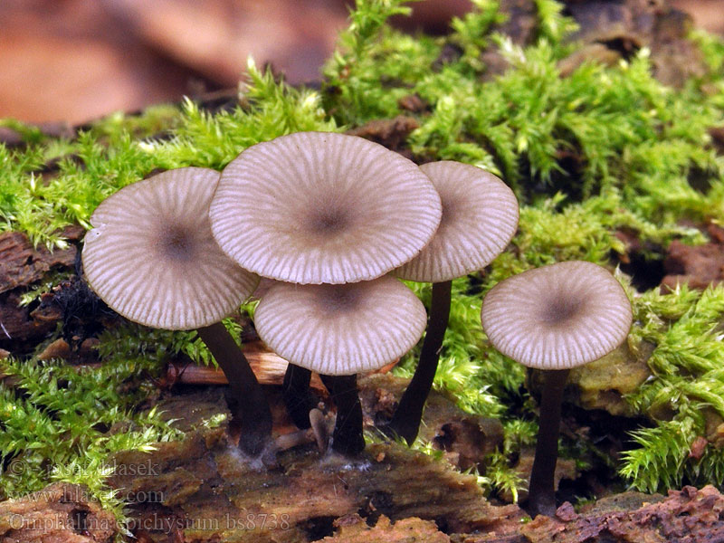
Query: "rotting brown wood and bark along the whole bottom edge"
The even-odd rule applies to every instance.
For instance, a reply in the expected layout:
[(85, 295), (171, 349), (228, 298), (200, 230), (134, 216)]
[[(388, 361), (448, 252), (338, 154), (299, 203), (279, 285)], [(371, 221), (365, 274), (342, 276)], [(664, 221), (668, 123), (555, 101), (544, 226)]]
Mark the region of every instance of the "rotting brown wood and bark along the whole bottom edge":
[[(393, 376), (360, 379), (367, 407), (394, 403), (404, 387), (405, 381)], [(281, 400), (277, 403), (281, 410)], [(130, 503), (126, 526), (147, 543), (169, 538), (196, 543), (302, 543), (322, 538), (329, 543), (411, 538), (434, 543), (710, 543), (724, 538), (724, 519), (719, 518), (724, 496), (711, 486), (670, 491), (665, 499), (626, 492), (578, 511), (566, 502), (553, 517), (525, 523), (517, 506), (485, 500), (473, 476), (396, 443), (368, 445), (359, 462), (349, 462), (333, 455), (320, 457), (310, 442), (279, 452), (276, 466), (264, 469), (242, 460), (225, 425), (206, 427), (205, 421), (215, 414), (228, 414), (213, 387), (205, 394), (173, 395), (160, 407), (177, 419), (179, 429), (188, 434), (186, 441), (158, 443), (150, 453), (121, 452), (110, 463), (115, 468), (110, 484)], [(434, 392), (425, 414), (433, 432), (453, 424), (451, 416), (460, 419), (455, 424), (472, 425), (465, 418), (471, 415), (455, 413), (452, 403)], [(367, 421), (374, 416), (366, 412)], [(445, 419), (448, 423), (443, 424)], [(69, 488), (79, 487), (56, 484), (35, 497), (0, 503), (0, 540), (12, 536), (32, 543), (109, 541), (112, 533), (83, 532), (77, 523), (70, 531), (56, 530), (43, 539), (39, 537), (44, 532), (17, 530), (9, 524), (10, 515), (20, 515), (12, 517), (15, 526), (21, 520), (27, 526), (31, 519), (71, 515), (85, 519), (86, 527), (112, 526), (112, 517), (88, 504), (82, 491), (63, 490), (57, 497), (58, 489)]]

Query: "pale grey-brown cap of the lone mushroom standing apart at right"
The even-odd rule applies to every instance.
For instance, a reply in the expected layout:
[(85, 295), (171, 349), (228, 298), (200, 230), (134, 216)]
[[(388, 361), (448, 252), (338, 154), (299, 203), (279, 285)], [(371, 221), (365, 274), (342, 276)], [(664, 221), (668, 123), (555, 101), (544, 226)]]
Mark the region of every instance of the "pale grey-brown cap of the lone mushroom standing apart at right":
[(631, 303), (609, 271), (558, 262), (500, 281), (482, 303), (482, 328), (528, 367), (567, 369), (603, 357), (631, 328)]

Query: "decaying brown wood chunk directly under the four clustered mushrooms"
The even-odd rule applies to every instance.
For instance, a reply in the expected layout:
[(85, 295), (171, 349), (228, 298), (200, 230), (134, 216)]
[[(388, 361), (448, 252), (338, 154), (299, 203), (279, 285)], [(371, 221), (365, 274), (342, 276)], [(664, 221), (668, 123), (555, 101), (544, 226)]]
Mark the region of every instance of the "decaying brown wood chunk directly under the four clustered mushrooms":
[[(404, 379), (388, 375), (360, 379), (367, 424), (404, 386)], [(275, 391), (270, 392), (275, 405)], [(176, 530), (191, 541), (310, 541), (331, 535), (336, 521), (355, 514), (372, 525), (384, 515), (392, 521), (434, 520), (438, 528), (455, 532), (506, 532), (525, 516), (515, 505), (491, 505), (477, 478), (450, 462), (398, 443), (370, 444), (350, 461), (320, 454), (310, 439), (267, 455), (264, 462), (249, 462), (234, 444), (233, 429), (205, 426), (215, 414), (226, 413), (213, 393), (176, 395), (159, 406), (187, 432), (185, 441), (158, 443), (155, 452), (120, 452), (112, 459), (110, 486), (131, 504), (129, 528), (137, 537), (164, 540)], [(279, 411), (273, 410), (275, 430), (289, 431)], [(453, 461), (474, 462), (502, 436), (500, 423), (462, 414), (442, 395), (433, 395), (426, 413), (424, 431), (431, 437), (443, 434), (448, 424), (469, 427), (465, 436), (448, 436), (440, 444)]]

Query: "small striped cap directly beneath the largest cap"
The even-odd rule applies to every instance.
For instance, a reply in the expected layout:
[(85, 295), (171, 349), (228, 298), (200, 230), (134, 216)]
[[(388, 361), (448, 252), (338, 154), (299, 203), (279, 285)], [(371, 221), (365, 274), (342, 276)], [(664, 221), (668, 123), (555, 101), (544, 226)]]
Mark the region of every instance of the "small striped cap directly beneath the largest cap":
[(352, 375), (389, 364), (423, 335), (423, 303), (390, 276), (343, 285), (278, 282), (254, 312), (259, 337), (291, 364)]

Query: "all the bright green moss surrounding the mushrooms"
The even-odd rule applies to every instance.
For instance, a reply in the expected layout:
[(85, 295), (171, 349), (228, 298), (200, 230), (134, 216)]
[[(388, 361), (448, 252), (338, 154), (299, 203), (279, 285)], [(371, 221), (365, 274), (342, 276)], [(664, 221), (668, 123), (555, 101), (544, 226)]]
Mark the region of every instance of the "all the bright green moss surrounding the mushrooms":
[[(419, 96), (426, 109), (414, 113), (419, 128), (407, 142), (414, 157), (489, 169), (521, 201), (519, 233), (509, 250), (484, 273), (453, 283), (450, 329), (435, 378), (435, 386), (457, 395), (463, 408), (502, 419), (504, 450), (492, 455), (485, 477), (491, 488), (514, 494), (520, 481), (508, 459), (531, 443), (535, 414), (523, 368), (490, 348), (482, 332), (481, 295), (514, 273), (549, 262), (609, 264), (625, 250), (616, 235), (622, 229), (638, 235), (644, 247), (665, 249), (674, 239), (705, 241), (681, 224), (724, 223), (724, 159), (708, 133), (724, 125), (724, 43), (692, 34), (710, 71), (681, 90), (653, 78), (645, 49), (630, 62), (587, 62), (562, 77), (559, 62), (578, 45), (565, 40), (575, 24), (561, 15), (561, 4), (536, 0), (535, 40), (527, 48), (496, 33), (505, 18), (497, 2), (473, 5), (472, 13), (452, 22), (449, 36), (431, 38), (386, 24), (391, 15), (406, 13), (399, 0), (359, 0), (319, 91), (292, 89), (250, 63), (240, 103), (231, 111), (212, 114), (186, 100), (139, 116), (112, 115), (70, 141), (5, 120), (26, 145), (0, 145), (0, 230), (62, 245), (64, 226), (88, 227), (100, 201), (157, 168), (221, 169), (243, 148), (282, 134), (410, 115), (400, 100)], [(492, 77), (483, 60), (490, 56), (481, 52), (500, 55), (508, 70)], [(662, 250), (643, 256), (661, 259)], [(45, 288), (37, 285), (26, 298)], [(429, 299), (429, 286), (414, 289)], [(722, 289), (630, 292), (636, 314), (630, 346), (647, 341), (656, 348), (649, 362), (654, 377), (628, 398), (652, 427), (633, 435), (618, 465), (624, 481), (650, 491), (683, 481), (721, 484), (724, 462), (714, 442), (700, 460), (690, 458), (689, 449), (696, 436), (710, 435), (712, 420), (724, 420), (724, 372), (717, 369)], [(6, 361), (4, 371), (16, 384), (0, 384), (6, 429), (0, 452), (6, 462), (14, 458), (32, 469), (5, 471), (3, 488), (30, 491), (53, 478), (85, 481), (104, 502), (119, 506), (104, 494), (103, 459), (176, 435), (157, 413), (131, 408), (154, 390), (143, 376), (155, 375), (171, 352), (210, 361), (193, 332), (138, 328), (101, 338), (100, 369)], [(396, 371), (409, 374), (413, 364), (414, 353)], [(126, 395), (126, 389), (136, 392)], [(133, 430), (101, 431), (113, 424)]]

